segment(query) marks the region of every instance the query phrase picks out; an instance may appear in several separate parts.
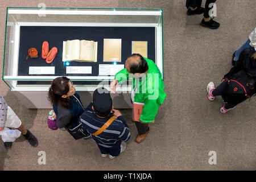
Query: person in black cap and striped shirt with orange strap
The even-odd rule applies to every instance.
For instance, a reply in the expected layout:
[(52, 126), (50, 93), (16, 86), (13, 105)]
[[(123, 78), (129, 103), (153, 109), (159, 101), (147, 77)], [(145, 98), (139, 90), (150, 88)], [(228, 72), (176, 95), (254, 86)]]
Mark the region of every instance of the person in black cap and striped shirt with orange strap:
[(125, 118), (113, 108), (107, 89), (98, 88), (93, 92), (93, 102), (86, 107), (80, 122), (98, 144), (102, 157), (109, 154), (109, 158), (113, 159), (125, 150), (125, 142), (131, 134)]

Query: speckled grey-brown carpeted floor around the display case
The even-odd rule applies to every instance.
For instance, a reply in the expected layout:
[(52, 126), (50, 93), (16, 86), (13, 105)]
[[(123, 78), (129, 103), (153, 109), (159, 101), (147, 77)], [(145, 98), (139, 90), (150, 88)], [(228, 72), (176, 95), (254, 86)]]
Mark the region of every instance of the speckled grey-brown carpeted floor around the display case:
[[(204, 5), (203, 1), (203, 5)], [(232, 54), (254, 30), (254, 0), (217, 1), (217, 30), (199, 25), (202, 15), (187, 16), (185, 1), (3, 1), (0, 5), (1, 47), (5, 40), (6, 7), (162, 8), (164, 83), (166, 101), (160, 107), (146, 140), (135, 142), (137, 129), (131, 110), (122, 110), (130, 127), (126, 150), (117, 158), (102, 158), (93, 140), (74, 140), (67, 132), (48, 129), (48, 109), (26, 109), (0, 82), (9, 106), (39, 140), (33, 148), (20, 137), (6, 150), (0, 142), (0, 170), (255, 170), (256, 98), (221, 114), (220, 97), (209, 102), (206, 86), (216, 85), (232, 67)], [(1, 70), (3, 61), (1, 61)], [(46, 165), (38, 152), (46, 152)], [(217, 165), (210, 165), (209, 151), (216, 151)]]

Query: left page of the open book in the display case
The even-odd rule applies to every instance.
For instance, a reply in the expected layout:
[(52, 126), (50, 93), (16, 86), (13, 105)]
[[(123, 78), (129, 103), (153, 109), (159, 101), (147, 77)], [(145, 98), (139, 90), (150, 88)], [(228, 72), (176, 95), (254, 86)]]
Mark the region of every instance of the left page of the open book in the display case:
[(80, 40), (67, 40), (65, 42), (65, 61), (80, 59)]

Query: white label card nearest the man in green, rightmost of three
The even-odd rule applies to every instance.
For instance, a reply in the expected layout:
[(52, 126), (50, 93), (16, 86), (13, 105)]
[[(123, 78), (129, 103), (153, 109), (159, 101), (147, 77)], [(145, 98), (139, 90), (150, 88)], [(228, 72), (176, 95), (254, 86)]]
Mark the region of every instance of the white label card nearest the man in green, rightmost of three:
[(125, 68), (124, 64), (99, 64), (98, 75), (115, 75), (123, 68)]

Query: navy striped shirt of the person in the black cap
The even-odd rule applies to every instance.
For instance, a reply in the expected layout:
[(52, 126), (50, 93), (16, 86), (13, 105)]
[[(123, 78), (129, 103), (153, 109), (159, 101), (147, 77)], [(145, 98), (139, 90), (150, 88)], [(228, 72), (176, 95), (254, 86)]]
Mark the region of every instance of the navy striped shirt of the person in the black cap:
[(126, 142), (130, 139), (130, 130), (126, 124), (125, 118), (119, 116), (115, 119), (109, 127), (100, 135), (94, 136), (92, 133), (98, 131), (105, 122), (107, 122), (112, 115), (107, 118), (99, 118), (92, 110), (92, 103), (86, 107), (84, 113), (80, 117), (82, 127), (90, 133), (90, 137), (100, 146), (111, 148), (120, 145), (121, 142)]

